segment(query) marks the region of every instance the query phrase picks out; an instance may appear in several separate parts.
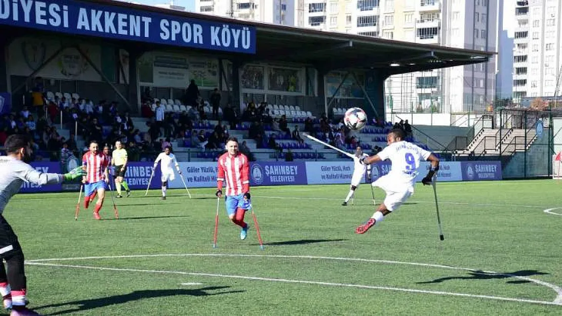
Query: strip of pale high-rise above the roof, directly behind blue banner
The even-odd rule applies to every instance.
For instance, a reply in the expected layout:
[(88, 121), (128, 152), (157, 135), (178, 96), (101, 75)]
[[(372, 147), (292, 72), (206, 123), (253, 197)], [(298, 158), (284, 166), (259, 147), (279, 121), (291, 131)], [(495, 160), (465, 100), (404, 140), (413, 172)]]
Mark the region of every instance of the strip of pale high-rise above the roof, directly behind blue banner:
[(195, 12), (281, 25), (295, 25), (294, 0), (195, 0)]

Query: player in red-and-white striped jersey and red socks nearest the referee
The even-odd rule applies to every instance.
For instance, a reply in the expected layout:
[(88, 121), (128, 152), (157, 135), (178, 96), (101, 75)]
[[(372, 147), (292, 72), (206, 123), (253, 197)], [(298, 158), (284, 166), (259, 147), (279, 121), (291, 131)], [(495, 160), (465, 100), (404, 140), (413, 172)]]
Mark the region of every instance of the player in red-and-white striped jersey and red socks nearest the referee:
[(82, 166), (88, 175), (85, 177), (84, 184), (84, 208), (88, 208), (90, 202), (98, 195), (96, 207), (94, 207), (94, 218), (99, 217), (99, 210), (103, 206), (105, 191), (109, 189), (109, 158), (99, 152), (99, 145), (96, 141), (90, 142), (90, 151), (82, 156)]

